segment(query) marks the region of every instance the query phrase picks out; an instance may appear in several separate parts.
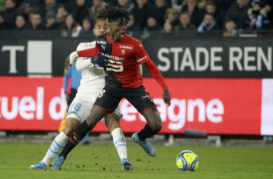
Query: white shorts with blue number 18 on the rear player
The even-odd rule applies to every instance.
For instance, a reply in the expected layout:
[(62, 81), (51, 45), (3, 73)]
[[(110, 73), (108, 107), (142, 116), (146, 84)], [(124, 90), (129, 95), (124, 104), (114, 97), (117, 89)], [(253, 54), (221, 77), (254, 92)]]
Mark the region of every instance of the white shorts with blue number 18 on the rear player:
[[(75, 118), (78, 119), (80, 123), (83, 123), (83, 121), (85, 121), (85, 119), (88, 118), (96, 98), (97, 95), (94, 94), (77, 93), (76, 97), (73, 99), (72, 103), (68, 108), (66, 119)], [(114, 113), (119, 115), (119, 119), (123, 116), (121, 110), (119, 109), (119, 106), (114, 110)], [(104, 118), (102, 119), (104, 125), (106, 125), (105, 124), (106, 116), (107, 115), (105, 115)]]

